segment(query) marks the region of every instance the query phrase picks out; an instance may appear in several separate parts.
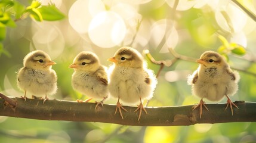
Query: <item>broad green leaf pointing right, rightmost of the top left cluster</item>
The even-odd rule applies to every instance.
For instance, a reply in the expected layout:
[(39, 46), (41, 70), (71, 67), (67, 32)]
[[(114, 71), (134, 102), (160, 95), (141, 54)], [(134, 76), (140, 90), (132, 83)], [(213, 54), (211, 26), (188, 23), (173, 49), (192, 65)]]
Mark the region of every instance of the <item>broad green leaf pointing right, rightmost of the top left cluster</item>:
[(42, 14), (43, 20), (55, 21), (61, 20), (65, 17), (65, 15), (55, 7), (55, 5), (44, 5), (38, 8), (38, 11)]

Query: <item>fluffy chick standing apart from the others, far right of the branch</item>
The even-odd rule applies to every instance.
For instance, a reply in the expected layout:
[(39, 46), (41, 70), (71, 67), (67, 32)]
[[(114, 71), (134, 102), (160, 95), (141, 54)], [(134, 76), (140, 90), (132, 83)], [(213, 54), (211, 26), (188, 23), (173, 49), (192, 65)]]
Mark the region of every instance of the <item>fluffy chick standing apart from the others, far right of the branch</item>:
[(224, 58), (214, 51), (204, 52), (199, 60), (199, 67), (192, 75), (188, 77), (187, 82), (192, 85), (192, 92), (201, 98), (198, 105), (193, 107), (200, 107), (200, 118), (202, 117), (202, 105), (208, 110), (203, 98), (209, 101), (220, 101), (224, 96), (227, 97), (227, 106), (230, 106), (232, 116), (234, 105), (238, 106), (230, 100), (229, 96), (232, 96), (238, 91), (238, 81), (240, 76), (237, 71), (232, 71), (229, 64)]

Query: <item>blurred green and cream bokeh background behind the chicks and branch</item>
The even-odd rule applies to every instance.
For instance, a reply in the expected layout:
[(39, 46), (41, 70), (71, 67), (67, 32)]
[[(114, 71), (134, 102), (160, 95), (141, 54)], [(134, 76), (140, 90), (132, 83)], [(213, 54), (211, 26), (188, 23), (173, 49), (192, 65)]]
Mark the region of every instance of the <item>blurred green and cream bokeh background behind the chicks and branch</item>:
[[(19, 1), (29, 5), (31, 1)], [(51, 0), (66, 15), (60, 21), (38, 22), (31, 18), (16, 21), (8, 28), (0, 56), (0, 92), (20, 97), (16, 72), (23, 67), (24, 56), (35, 49), (47, 52), (57, 64), (58, 92), (50, 99), (85, 100), (88, 97), (73, 91), (71, 75), (73, 58), (81, 51), (92, 51), (101, 64), (110, 66), (121, 46), (132, 46), (141, 53), (148, 49), (156, 60), (169, 62), (180, 55), (197, 59), (207, 50), (217, 51), (222, 35), (230, 43), (246, 49), (243, 56), (229, 52), (229, 64), (238, 69), (241, 79), (233, 101), (256, 101), (256, 24), (235, 3), (227, 0)], [(176, 3), (178, 2), (178, 3)], [(255, 13), (256, 1), (239, 1)], [(174, 5), (178, 4), (177, 7)], [(150, 63), (150, 69), (159, 65)], [(178, 60), (164, 67), (158, 77), (155, 95), (148, 106), (190, 105), (199, 102), (192, 95), (186, 77), (198, 64)], [(30, 95), (28, 95), (30, 97)], [(207, 100), (205, 100), (208, 103)], [(92, 101), (93, 102), (93, 101)], [(146, 102), (146, 101), (145, 101)], [(220, 102), (226, 102), (226, 98)], [(106, 104), (116, 104), (109, 99)], [(227, 112), (229, 114), (229, 112)], [(44, 121), (0, 117), (1, 142), (256, 142), (255, 123), (218, 123), (193, 126), (141, 127), (107, 123)]]

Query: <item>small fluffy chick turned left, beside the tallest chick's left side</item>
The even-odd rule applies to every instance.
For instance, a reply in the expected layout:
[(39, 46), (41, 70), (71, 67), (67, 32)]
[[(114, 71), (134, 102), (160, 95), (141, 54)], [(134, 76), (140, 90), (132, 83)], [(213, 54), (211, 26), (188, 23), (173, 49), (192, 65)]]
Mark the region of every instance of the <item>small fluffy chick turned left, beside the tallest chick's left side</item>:
[[(103, 106), (103, 101), (109, 96), (107, 72), (106, 67), (101, 66), (97, 55), (82, 51), (76, 55), (73, 64), (69, 67), (75, 70), (72, 74), (73, 89), (91, 97), (85, 102), (92, 98), (102, 98), (102, 101), (96, 101), (95, 110), (99, 104)], [(78, 102), (83, 101), (78, 100)]]

